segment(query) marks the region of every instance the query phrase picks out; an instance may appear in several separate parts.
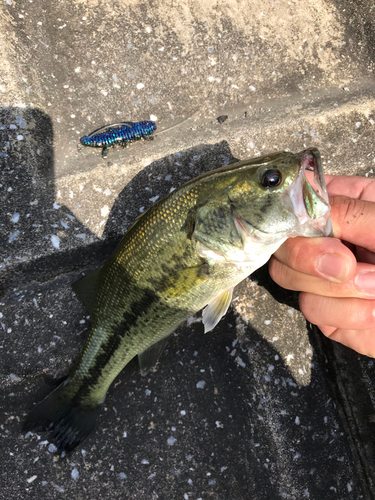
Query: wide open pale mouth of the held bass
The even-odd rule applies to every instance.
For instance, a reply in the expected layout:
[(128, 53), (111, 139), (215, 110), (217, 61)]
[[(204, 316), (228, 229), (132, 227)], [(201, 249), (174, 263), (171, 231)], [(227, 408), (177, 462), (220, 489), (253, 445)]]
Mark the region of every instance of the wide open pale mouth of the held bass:
[(304, 236), (332, 236), (331, 207), (320, 153), (310, 148), (300, 154), (301, 169), (289, 189), (293, 211)]

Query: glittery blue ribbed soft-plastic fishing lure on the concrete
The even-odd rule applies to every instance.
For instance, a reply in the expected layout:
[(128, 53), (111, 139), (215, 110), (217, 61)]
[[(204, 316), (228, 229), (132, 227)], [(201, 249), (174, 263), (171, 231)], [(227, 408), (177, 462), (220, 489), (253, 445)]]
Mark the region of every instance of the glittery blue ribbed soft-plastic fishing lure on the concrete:
[(152, 121), (120, 122), (94, 130), (90, 135), (81, 137), (80, 141), (84, 146), (102, 148), (102, 156), (105, 158), (111, 146), (120, 144), (126, 147), (138, 139), (153, 139), (151, 134), (155, 130), (156, 123)]

